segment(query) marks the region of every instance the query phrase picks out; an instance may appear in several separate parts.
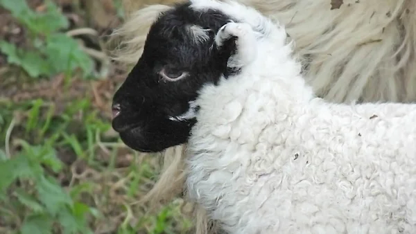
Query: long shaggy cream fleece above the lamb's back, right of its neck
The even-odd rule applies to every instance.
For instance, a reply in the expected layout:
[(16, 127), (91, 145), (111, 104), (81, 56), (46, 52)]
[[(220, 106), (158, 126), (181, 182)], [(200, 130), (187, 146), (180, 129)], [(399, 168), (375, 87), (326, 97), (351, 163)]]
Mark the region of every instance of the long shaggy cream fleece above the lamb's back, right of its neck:
[(416, 100), (416, 1), (241, 0), (286, 25), (327, 100)]

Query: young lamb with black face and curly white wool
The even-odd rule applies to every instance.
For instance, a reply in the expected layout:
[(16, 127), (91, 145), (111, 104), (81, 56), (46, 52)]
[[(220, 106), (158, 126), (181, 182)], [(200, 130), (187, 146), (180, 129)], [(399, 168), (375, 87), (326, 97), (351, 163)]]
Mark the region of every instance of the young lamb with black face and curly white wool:
[(412, 233), (416, 106), (316, 97), (286, 40), (235, 2), (168, 10), (114, 129), (140, 151), (188, 141), (189, 196), (227, 233)]

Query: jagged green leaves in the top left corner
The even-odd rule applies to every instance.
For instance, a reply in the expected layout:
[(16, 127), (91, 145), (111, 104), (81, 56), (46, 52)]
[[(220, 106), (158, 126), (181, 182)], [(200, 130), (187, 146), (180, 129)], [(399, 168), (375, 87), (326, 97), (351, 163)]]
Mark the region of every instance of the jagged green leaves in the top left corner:
[[(0, 41), (0, 50), (8, 56), (10, 64), (21, 66), (33, 78), (51, 76), (60, 72), (81, 69), (84, 76), (91, 75), (94, 62), (75, 39), (58, 30), (68, 28), (69, 21), (58, 6), (46, 0), (46, 12), (35, 12), (26, 0), (0, 0), (0, 5), (10, 10), (12, 16), (28, 28), (33, 49), (21, 50), (14, 44)], [(46, 41), (40, 39), (45, 38)]]

